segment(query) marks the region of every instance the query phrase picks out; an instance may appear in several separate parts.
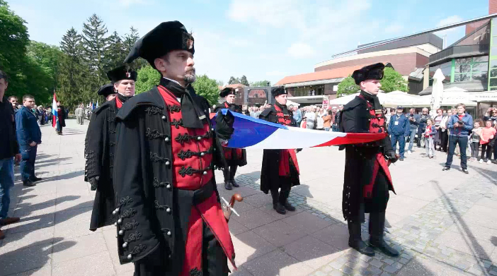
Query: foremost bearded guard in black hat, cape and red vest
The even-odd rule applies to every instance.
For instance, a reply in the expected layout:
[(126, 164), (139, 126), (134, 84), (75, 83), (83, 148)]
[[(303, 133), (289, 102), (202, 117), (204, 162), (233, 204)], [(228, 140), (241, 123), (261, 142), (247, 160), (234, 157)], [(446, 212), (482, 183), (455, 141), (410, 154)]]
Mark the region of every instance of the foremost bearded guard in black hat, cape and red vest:
[(192, 86), (194, 53), (193, 36), (170, 21), (125, 59), (142, 57), (161, 73), (159, 86), (132, 97), (116, 116), (118, 256), (135, 263), (135, 276), (226, 276), (227, 259), (236, 268), (214, 177), (234, 117), (217, 114), (211, 126), (210, 104)]

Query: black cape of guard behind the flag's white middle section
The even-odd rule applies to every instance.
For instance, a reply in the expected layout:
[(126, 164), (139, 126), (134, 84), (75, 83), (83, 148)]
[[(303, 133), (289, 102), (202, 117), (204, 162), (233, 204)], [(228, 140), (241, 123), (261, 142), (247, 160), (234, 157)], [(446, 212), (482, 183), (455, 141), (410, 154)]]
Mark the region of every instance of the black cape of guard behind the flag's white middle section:
[[(283, 113), (290, 114), (293, 120), (292, 112), (283, 109)], [(270, 121), (278, 124), (278, 116), (276, 116), (276, 109), (271, 106), (264, 109), (259, 115), (259, 119)], [(300, 185), (300, 177), (297, 169), (290, 162), (290, 177), (280, 176), (280, 152), (281, 150), (264, 150), (263, 162), (261, 167), (261, 191), (268, 193), (270, 190), (281, 188), (283, 185), (297, 186)]]

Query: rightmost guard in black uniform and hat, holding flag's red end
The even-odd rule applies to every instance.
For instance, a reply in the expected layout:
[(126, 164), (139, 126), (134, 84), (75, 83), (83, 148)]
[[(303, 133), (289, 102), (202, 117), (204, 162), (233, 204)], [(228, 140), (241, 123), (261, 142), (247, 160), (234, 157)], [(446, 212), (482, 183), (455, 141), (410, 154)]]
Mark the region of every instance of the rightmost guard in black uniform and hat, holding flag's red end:
[[(383, 64), (372, 64), (354, 71), (352, 78), (360, 85), (360, 95), (350, 101), (341, 112), (340, 128), (348, 133), (385, 133), (387, 131), (382, 105), (377, 94), (383, 78)], [(389, 190), (394, 191), (392, 177), (385, 158), (396, 162), (390, 138), (373, 143), (343, 145), (345, 148), (345, 176), (343, 184), (343, 217), (348, 223), (348, 245), (367, 256), (374, 256), (378, 248), (388, 256), (399, 252), (383, 239), (385, 210)], [(395, 192), (394, 192), (395, 193)], [(362, 241), (360, 224), (370, 213), (370, 246)]]

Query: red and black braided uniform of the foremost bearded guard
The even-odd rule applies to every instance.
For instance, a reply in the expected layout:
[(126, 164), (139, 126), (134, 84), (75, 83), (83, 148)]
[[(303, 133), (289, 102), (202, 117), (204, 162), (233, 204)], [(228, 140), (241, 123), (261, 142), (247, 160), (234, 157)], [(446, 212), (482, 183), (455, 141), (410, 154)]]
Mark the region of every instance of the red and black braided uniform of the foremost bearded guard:
[[(201, 272), (202, 227), (207, 226), (235, 266), (214, 176), (215, 167), (224, 164), (216, 130), (207, 120), (203, 128), (185, 128), (181, 104), (167, 87), (132, 97), (117, 116), (120, 262), (157, 260), (154, 265), (163, 271), (158, 275)], [(192, 98), (208, 118), (208, 102), (194, 93)]]

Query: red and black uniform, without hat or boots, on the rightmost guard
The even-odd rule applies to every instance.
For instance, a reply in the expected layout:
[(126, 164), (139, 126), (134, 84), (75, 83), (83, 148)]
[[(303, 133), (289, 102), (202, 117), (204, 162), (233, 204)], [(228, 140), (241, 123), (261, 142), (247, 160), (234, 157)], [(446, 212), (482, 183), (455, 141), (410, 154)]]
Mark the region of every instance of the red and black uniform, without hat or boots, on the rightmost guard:
[[(362, 92), (365, 93), (365, 92)], [(340, 127), (347, 133), (384, 133), (385, 118), (370, 100), (360, 95), (343, 108)], [(343, 217), (348, 222), (363, 222), (365, 212), (383, 212), (394, 191), (392, 177), (384, 156), (391, 152), (387, 136), (373, 143), (344, 145)]]

